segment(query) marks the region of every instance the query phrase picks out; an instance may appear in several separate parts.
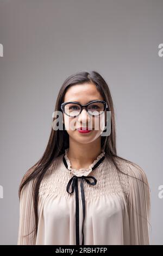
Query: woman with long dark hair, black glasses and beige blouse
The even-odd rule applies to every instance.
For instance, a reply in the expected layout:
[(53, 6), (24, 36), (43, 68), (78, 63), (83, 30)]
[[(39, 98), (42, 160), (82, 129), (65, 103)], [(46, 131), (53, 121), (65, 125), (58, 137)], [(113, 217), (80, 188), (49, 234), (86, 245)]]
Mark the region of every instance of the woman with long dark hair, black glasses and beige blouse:
[(149, 245), (147, 176), (116, 153), (114, 106), (103, 77), (96, 71), (68, 77), (57, 111), (64, 129), (54, 117), (45, 153), (20, 185), (17, 244)]

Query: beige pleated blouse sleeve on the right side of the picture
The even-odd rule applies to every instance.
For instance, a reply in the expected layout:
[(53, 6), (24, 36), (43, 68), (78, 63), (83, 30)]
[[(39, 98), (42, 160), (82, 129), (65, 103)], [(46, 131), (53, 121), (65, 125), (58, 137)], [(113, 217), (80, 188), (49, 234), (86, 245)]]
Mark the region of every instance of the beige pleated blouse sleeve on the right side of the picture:
[(128, 163), (127, 170), (129, 175), (135, 177), (128, 177), (130, 244), (150, 245), (149, 219), (151, 196), (147, 176), (142, 168), (135, 163), (134, 166)]

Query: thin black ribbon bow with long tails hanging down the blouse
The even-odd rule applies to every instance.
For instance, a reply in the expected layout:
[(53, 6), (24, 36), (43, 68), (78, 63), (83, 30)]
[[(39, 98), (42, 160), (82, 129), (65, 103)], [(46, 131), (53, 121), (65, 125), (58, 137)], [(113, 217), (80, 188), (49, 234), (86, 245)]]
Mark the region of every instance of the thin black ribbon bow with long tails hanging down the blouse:
[[(93, 179), (94, 182), (90, 182), (88, 179)], [(82, 224), (82, 245), (84, 245), (84, 220), (85, 220), (85, 196), (84, 196), (84, 187), (83, 187), (83, 180), (85, 180), (88, 184), (95, 186), (97, 183), (97, 180), (93, 176), (76, 176), (74, 175), (67, 184), (67, 192), (72, 194), (74, 192), (74, 188), (76, 189), (76, 244), (79, 245), (79, 194), (78, 194), (78, 179), (81, 179), (80, 181), (80, 190), (82, 194), (82, 205), (83, 205), (83, 224)], [(72, 184), (72, 190), (69, 192), (69, 188)]]

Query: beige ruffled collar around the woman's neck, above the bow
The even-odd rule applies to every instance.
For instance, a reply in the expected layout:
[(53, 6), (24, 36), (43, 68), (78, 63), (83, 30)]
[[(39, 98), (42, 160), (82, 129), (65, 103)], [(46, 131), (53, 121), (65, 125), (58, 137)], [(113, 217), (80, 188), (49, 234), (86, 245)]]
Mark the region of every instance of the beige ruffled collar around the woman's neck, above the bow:
[(65, 149), (65, 160), (67, 162), (67, 168), (68, 170), (70, 170), (74, 175), (76, 176), (81, 176), (81, 175), (84, 175), (84, 176), (87, 176), (89, 175), (91, 172), (92, 172), (92, 168), (93, 166), (95, 166), (95, 164), (100, 160), (102, 159), (102, 157), (105, 155), (105, 151), (102, 150), (102, 153), (99, 154), (96, 158), (95, 161), (93, 161), (93, 163), (90, 164), (89, 168), (80, 168), (80, 169), (73, 169), (71, 168), (71, 162), (70, 160), (68, 159), (68, 155), (67, 155), (67, 152), (68, 152), (68, 148)]

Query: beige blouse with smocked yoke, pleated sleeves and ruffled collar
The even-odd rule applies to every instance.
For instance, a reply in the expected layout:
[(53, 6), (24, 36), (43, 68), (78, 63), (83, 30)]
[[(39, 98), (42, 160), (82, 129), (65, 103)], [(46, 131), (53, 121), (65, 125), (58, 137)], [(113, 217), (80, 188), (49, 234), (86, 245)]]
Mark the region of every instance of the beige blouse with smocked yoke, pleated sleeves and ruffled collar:
[(23, 187), (17, 245), (149, 245), (145, 172), (115, 159), (118, 172), (104, 151), (88, 169), (72, 169), (67, 150), (41, 181), (35, 235), (33, 180)]

